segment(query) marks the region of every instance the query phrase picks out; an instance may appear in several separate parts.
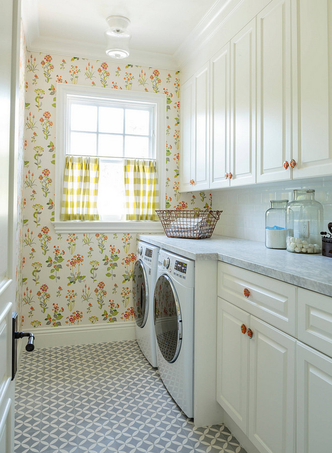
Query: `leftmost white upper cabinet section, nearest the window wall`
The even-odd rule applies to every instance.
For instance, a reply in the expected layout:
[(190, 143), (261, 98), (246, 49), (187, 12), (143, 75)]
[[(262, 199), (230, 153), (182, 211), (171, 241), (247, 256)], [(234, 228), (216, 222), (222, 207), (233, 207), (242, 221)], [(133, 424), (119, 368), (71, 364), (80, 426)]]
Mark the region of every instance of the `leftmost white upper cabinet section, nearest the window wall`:
[(180, 190), (205, 190), (209, 188), (209, 62), (184, 83), (181, 108)]

